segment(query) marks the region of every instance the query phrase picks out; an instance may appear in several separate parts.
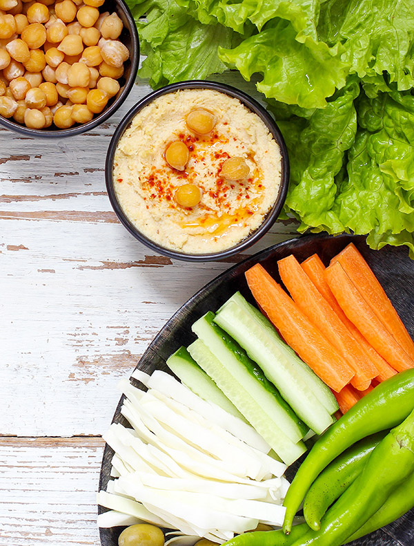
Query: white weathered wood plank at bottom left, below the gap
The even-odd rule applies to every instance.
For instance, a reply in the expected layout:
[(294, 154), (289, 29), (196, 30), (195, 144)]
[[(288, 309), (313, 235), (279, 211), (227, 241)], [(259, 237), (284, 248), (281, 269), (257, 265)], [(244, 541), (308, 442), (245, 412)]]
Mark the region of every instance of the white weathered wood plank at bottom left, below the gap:
[(0, 437), (0, 545), (99, 545), (103, 440)]

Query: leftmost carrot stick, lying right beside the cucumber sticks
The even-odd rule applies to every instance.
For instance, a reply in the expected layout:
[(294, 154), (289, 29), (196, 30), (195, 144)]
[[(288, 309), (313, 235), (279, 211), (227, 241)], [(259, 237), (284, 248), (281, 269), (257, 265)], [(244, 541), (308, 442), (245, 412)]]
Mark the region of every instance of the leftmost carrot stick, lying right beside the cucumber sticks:
[(283, 288), (262, 265), (246, 271), (249, 288), (257, 303), (308, 366), (333, 390), (339, 392), (354, 372), (337, 350), (324, 339)]

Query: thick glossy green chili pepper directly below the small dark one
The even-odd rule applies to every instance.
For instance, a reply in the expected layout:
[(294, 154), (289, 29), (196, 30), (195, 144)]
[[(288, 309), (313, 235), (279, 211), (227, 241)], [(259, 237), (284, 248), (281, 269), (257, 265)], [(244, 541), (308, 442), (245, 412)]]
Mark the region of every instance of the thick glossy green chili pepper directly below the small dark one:
[(309, 529), (290, 546), (341, 546), (413, 471), (414, 411), (375, 447), (362, 473), (326, 512), (321, 529)]

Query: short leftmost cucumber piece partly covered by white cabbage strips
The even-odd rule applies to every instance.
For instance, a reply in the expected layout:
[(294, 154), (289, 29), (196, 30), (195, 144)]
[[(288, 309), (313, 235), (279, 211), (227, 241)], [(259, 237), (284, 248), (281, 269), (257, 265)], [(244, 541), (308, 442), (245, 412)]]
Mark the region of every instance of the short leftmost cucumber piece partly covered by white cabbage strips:
[(197, 362), (191, 358), (190, 353), (185, 347), (180, 347), (170, 356), (167, 360), (167, 366), (181, 379), (181, 383), (190, 390), (193, 390), (193, 393), (200, 398), (208, 402), (213, 402), (213, 404), (217, 404), (217, 406), (224, 409), (227, 413), (231, 413), (231, 415), (246, 421), (239, 410), (217, 387), (213, 379), (210, 379)]

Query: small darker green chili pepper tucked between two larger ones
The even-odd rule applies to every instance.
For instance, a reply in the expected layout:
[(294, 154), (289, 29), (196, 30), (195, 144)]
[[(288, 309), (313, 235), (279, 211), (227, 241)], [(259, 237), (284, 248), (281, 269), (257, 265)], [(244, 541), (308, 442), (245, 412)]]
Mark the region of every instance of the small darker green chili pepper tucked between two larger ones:
[(357, 478), (371, 451), (382, 440), (385, 433), (377, 433), (357, 442), (344, 451), (324, 469), (311, 485), (304, 500), (306, 523), (317, 531), (321, 518), (328, 507), (339, 498)]

